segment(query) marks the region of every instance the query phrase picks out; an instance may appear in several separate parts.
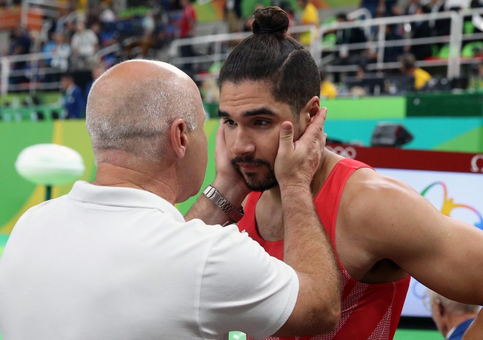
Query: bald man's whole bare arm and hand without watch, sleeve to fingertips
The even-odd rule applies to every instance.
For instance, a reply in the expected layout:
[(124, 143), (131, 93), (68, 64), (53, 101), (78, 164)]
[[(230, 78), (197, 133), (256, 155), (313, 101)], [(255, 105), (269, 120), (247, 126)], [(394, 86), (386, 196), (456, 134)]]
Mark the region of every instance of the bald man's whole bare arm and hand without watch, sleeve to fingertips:
[(284, 262), (299, 279), (296, 305), (278, 336), (332, 331), (339, 322), (340, 277), (334, 252), (315, 212), (310, 191), (325, 146), (326, 109), (321, 109), (303, 136), (293, 143), (293, 127), (282, 124), (275, 160), (284, 221)]

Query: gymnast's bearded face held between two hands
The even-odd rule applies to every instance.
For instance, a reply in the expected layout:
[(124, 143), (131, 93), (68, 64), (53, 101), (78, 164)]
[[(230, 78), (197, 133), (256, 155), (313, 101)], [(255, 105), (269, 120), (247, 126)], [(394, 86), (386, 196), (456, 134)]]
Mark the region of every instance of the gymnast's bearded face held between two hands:
[(220, 89), (219, 115), (228, 156), (247, 186), (264, 191), (278, 185), (273, 166), (280, 125), (290, 121), (294, 140), (300, 135), (290, 106), (275, 100), (267, 82), (226, 82)]

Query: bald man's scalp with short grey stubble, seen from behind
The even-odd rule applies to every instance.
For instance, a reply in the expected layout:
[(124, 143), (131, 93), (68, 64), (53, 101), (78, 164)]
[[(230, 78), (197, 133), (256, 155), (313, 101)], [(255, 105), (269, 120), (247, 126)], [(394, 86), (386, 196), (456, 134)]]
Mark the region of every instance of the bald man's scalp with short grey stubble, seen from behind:
[(167, 131), (176, 118), (196, 129), (201, 98), (196, 84), (173, 65), (125, 61), (93, 84), (86, 124), (96, 161), (105, 150), (122, 150), (145, 160), (163, 156)]

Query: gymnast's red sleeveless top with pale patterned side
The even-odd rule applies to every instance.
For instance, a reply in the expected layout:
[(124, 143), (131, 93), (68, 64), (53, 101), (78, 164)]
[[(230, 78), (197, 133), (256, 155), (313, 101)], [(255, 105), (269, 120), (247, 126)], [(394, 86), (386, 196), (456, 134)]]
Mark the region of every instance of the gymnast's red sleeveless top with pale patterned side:
[[(359, 168), (369, 167), (353, 159), (339, 161), (315, 197), (314, 203), (320, 221), (336, 251), (336, 221), (342, 191), (349, 177)], [(248, 232), (271, 256), (283, 260), (283, 240), (266, 241), (258, 233), (255, 205), (262, 193), (252, 192), (245, 206), (245, 216), (238, 223), (240, 231)], [(342, 283), (341, 319), (337, 328), (327, 334), (290, 338), (269, 337), (269, 340), (386, 340), (392, 339), (403, 309), (411, 277), (389, 283), (365, 284), (354, 280), (344, 269), (339, 257)], [(250, 336), (247, 338), (252, 339)]]

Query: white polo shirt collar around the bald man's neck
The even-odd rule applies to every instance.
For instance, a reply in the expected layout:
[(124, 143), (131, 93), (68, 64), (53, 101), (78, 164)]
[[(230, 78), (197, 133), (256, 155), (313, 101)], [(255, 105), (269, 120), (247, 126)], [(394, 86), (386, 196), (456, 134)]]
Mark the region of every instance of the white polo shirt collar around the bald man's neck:
[(117, 207), (151, 208), (170, 213), (178, 222), (185, 222), (176, 207), (153, 193), (141, 189), (97, 186), (77, 181), (68, 193), (75, 201)]

